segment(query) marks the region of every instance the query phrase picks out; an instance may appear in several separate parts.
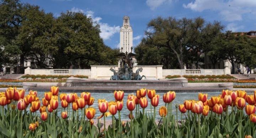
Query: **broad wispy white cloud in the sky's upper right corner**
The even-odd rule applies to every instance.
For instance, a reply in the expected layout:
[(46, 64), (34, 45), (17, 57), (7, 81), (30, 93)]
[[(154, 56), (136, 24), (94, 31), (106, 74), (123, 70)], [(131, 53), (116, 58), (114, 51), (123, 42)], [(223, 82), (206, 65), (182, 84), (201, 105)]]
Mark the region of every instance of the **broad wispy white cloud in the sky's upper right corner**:
[(256, 0), (194, 0), (184, 8), (202, 12), (217, 11), (226, 21), (241, 21), (246, 13), (255, 13)]

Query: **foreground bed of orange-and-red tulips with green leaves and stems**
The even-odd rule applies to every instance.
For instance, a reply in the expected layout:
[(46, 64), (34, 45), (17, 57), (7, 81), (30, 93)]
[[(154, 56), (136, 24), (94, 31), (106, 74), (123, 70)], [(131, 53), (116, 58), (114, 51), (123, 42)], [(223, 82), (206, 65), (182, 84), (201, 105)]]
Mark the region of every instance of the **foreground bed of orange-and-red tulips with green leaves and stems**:
[[(25, 95), (25, 90), (8, 88), (0, 93), (0, 135), (19, 138), (256, 137), (256, 92), (249, 95), (245, 91), (223, 90), (219, 96), (212, 97), (199, 93), (198, 100), (187, 99), (176, 105), (176, 112), (172, 112), (176, 98), (172, 91), (160, 97), (155, 90), (140, 89), (127, 98), (123, 91), (115, 91), (115, 101), (110, 102), (94, 99), (92, 94), (59, 94), (58, 87), (51, 87), (50, 92), (39, 99), (36, 91)], [(130, 114), (121, 120), (124, 98), (128, 99), (126, 106)], [(98, 110), (92, 107), (95, 100), (98, 100)], [(165, 106), (159, 107), (159, 100), (163, 100)], [(145, 112), (146, 108), (150, 108), (150, 112)], [(181, 119), (178, 110), (186, 118)], [(95, 116), (96, 112), (101, 115)], [(156, 114), (161, 118), (156, 119)], [(112, 117), (112, 125), (106, 125), (107, 116)], [(97, 123), (101, 118), (103, 130)]]

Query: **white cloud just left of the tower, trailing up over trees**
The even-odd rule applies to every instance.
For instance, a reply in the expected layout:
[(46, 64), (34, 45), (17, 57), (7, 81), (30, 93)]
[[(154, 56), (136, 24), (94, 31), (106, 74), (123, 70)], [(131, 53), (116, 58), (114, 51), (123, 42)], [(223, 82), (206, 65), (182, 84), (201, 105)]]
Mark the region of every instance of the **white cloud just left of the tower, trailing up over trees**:
[(101, 17), (94, 17), (94, 12), (89, 10), (89, 11), (84, 11), (82, 9), (79, 9), (79, 8), (75, 8), (73, 7), (71, 9), (72, 12), (82, 12), (84, 14), (86, 14), (88, 17), (91, 17), (92, 18), (92, 21), (94, 23), (97, 23), (100, 25), (100, 37), (103, 39), (103, 40), (108, 40), (110, 39), (115, 33), (118, 33), (119, 30), (120, 30), (120, 26), (110, 26), (109, 24), (107, 23), (102, 23), (101, 22)]

